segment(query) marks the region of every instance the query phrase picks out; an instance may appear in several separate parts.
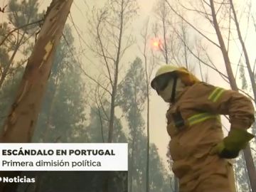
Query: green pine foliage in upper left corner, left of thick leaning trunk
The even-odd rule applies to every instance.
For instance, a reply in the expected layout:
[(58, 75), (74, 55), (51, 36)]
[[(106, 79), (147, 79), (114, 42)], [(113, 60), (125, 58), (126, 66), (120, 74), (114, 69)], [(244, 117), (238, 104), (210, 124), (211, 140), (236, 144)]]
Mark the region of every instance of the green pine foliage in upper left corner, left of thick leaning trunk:
[[(11, 76), (15, 76), (16, 73), (23, 70), (23, 64), (31, 54), (33, 41), (28, 40), (38, 30), (38, 25), (19, 27), (41, 18), (41, 14), (38, 14), (37, 1), (9, 1), (8, 21), (0, 23), (0, 42), (2, 43), (0, 46), (0, 87), (4, 81), (9, 78), (14, 79)], [(14, 28), (18, 28), (18, 30), (11, 33)], [(20, 53), (18, 58), (16, 57), (17, 53)]]

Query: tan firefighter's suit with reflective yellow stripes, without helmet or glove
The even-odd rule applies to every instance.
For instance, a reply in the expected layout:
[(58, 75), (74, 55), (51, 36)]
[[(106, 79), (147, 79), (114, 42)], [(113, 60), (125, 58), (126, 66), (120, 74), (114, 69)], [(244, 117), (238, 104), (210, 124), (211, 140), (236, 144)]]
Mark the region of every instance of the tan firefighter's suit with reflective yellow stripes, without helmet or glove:
[(219, 114), (229, 115), (230, 129), (247, 129), (254, 122), (247, 97), (204, 82), (187, 86), (166, 112), (172, 169), (180, 192), (235, 191), (230, 160), (209, 154), (223, 139)]

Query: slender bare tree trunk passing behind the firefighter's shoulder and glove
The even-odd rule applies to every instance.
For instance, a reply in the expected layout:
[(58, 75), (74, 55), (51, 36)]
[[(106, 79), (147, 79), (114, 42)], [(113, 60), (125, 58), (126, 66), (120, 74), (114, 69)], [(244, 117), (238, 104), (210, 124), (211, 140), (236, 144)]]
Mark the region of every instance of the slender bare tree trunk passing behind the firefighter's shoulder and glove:
[[(235, 82), (235, 77), (233, 75), (233, 71), (232, 71), (232, 68), (230, 65), (230, 60), (228, 57), (228, 51), (225, 48), (225, 43), (224, 43), (223, 37), (220, 33), (220, 28), (218, 26), (213, 0), (210, 0), (210, 9), (211, 9), (212, 16), (213, 16), (214, 28), (215, 28), (215, 31), (218, 36), (218, 41), (220, 43), (220, 50), (223, 53), (223, 58), (225, 61), (225, 67), (226, 67), (226, 70), (228, 73), (228, 79), (230, 81), (230, 86), (233, 90), (238, 91), (238, 86)], [(246, 163), (246, 168), (247, 168), (247, 172), (248, 172), (249, 179), (250, 179), (250, 185), (252, 188), (252, 192), (256, 192), (256, 182), (255, 182), (256, 181), (256, 171), (255, 171), (255, 165), (254, 165), (253, 159), (252, 159), (252, 153), (250, 151), (250, 146), (247, 145), (247, 147), (243, 150), (243, 152), (245, 155), (245, 163)]]

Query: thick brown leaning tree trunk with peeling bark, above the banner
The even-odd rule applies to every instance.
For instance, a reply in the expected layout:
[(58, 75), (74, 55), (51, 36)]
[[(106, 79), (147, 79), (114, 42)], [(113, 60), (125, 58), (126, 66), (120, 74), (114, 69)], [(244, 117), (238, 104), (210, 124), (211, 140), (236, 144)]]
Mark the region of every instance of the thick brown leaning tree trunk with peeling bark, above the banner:
[[(65, 21), (73, 0), (53, 0), (46, 12), (38, 41), (26, 65), (21, 85), (14, 100), (9, 116), (0, 134), (0, 142), (31, 142), (41, 109), (43, 95), (53, 64), (53, 54), (58, 46)], [(20, 172), (0, 172), (0, 176), (17, 176)], [(0, 192), (16, 190), (16, 185), (0, 183)]]

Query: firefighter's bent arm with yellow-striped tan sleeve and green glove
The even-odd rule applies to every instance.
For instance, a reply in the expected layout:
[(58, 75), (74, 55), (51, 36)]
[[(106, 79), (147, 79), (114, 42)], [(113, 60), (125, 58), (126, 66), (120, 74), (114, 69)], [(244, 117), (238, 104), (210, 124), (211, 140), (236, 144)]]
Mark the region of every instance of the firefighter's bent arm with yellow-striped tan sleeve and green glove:
[[(196, 85), (196, 108), (215, 114), (228, 114), (230, 117), (230, 132), (213, 151), (217, 151), (221, 157), (234, 158), (241, 149), (254, 136), (246, 131), (254, 119), (254, 107), (249, 98), (233, 90), (225, 90), (213, 85)], [(196, 90), (194, 90), (196, 92)], [(199, 96), (202, 96), (201, 98)]]

